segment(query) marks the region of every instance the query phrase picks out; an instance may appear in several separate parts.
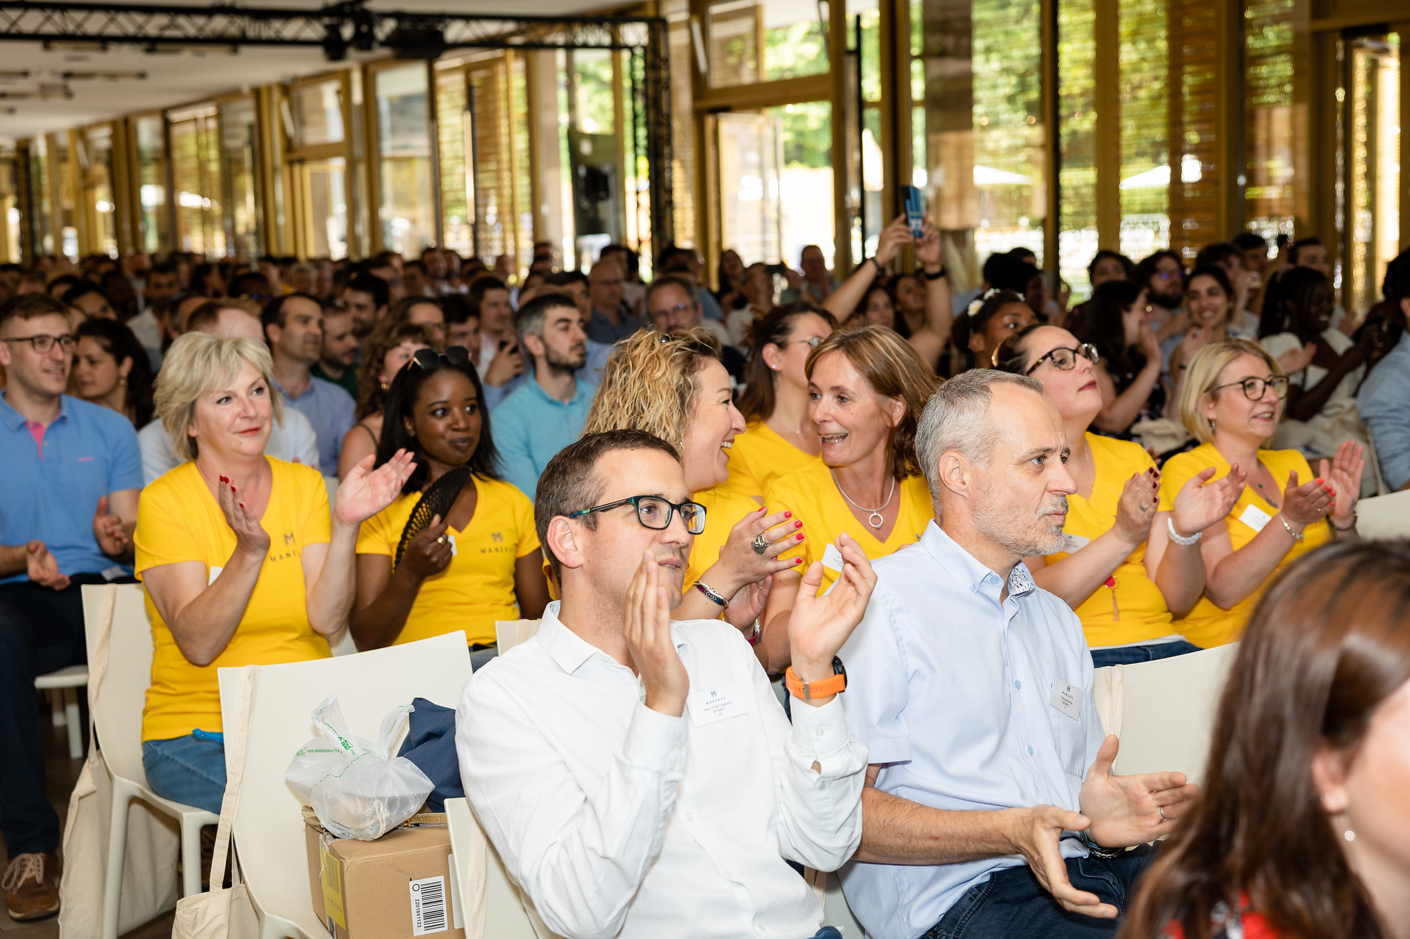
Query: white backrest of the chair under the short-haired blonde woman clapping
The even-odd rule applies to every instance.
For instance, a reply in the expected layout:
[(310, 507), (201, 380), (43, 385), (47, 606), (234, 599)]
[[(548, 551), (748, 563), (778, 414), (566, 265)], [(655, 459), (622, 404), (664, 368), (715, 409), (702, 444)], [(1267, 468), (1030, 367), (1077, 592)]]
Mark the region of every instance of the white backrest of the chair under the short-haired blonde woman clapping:
[[(116, 590), (113, 622), (100, 622), (103, 593)], [(142, 770), (142, 708), (152, 684), (152, 624), (142, 607), (141, 584), (86, 584), (83, 587), (83, 624), (89, 663), (100, 655), (102, 634), (107, 631), (107, 669), (89, 687), (89, 705), (97, 729), (103, 759), (114, 776), (147, 786)]]

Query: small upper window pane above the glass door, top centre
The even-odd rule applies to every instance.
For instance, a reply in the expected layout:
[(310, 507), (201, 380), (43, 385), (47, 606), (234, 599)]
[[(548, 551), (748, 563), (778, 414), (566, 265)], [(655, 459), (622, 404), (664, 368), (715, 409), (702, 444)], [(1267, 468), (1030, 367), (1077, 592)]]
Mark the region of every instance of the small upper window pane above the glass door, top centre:
[(705, 20), (712, 87), (828, 72), (825, 0), (726, 0)]

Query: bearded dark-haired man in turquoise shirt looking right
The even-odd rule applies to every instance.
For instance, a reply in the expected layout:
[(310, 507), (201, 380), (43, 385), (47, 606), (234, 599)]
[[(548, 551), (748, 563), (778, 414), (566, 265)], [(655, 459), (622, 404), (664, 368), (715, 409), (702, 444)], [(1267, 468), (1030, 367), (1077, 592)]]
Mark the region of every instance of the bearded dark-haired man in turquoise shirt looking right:
[(515, 314), (515, 331), (533, 356), (533, 377), (495, 408), (495, 448), (505, 479), (533, 498), (543, 467), (582, 434), (596, 389), (575, 374), (588, 336), (570, 297), (534, 297)]

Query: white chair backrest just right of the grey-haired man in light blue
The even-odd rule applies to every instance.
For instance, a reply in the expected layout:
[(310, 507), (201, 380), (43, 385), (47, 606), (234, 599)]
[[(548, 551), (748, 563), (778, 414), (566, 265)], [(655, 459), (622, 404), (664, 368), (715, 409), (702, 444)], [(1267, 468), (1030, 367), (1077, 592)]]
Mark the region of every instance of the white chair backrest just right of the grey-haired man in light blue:
[(1097, 669), (1094, 704), (1121, 738), (1117, 773), (1179, 770), (1204, 777), (1214, 715), (1238, 643), (1183, 656)]

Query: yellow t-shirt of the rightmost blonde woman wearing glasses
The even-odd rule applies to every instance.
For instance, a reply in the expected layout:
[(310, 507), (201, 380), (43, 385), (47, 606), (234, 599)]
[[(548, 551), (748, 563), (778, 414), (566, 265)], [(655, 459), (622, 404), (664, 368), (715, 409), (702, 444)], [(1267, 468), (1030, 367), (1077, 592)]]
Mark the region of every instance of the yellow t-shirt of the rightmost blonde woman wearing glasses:
[[(1307, 483), (1316, 479), (1313, 467), (1307, 465), (1307, 459), (1297, 450), (1259, 450), (1258, 459), (1268, 472), (1272, 473), (1273, 481), (1277, 484), (1277, 498), (1279, 505), (1283, 501), (1283, 487), (1287, 484), (1287, 474), (1297, 470), (1299, 484)], [(1172, 456), (1165, 463), (1165, 469), (1160, 473), (1160, 511), (1167, 511), (1175, 501), (1175, 494), (1180, 491), (1191, 476), (1198, 476), (1201, 470), (1214, 467), (1217, 476), (1225, 476), (1230, 472), (1228, 460), (1214, 449), (1213, 443), (1201, 443), (1189, 453), (1177, 453)], [(1230, 531), (1230, 541), (1234, 545), (1234, 550), (1238, 550), (1248, 542), (1253, 541), (1253, 535), (1259, 532), (1256, 528), (1251, 528), (1248, 522), (1241, 521), (1244, 512), (1249, 507), (1262, 511), (1266, 515), (1272, 515), (1273, 519), (1269, 525), (1280, 525), (1277, 521), (1277, 508), (1258, 494), (1258, 487), (1248, 484), (1239, 494), (1238, 501), (1234, 503), (1234, 508), (1230, 511), (1224, 524)], [(1272, 580), (1277, 572), (1280, 572), (1286, 565), (1292, 563), (1297, 557), (1301, 557), (1313, 548), (1331, 541), (1331, 527), (1327, 525), (1327, 519), (1320, 519), (1313, 522), (1303, 531), (1303, 541), (1293, 542), (1292, 550), (1279, 562), (1277, 567), (1269, 574), (1268, 580), (1255, 590), (1252, 594), (1238, 601), (1228, 610), (1215, 607), (1208, 597), (1200, 597), (1200, 601), (1194, 604), (1194, 610), (1190, 611), (1183, 619), (1177, 619), (1175, 628), (1184, 634), (1184, 638), (1197, 646), (1208, 649), (1210, 646), (1221, 646), (1228, 642), (1234, 642), (1244, 634), (1244, 626), (1248, 624), (1249, 614), (1253, 612), (1253, 605), (1258, 598), (1263, 595), (1263, 590), (1268, 581)]]

